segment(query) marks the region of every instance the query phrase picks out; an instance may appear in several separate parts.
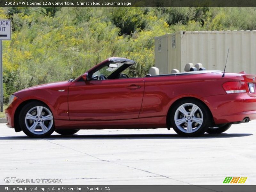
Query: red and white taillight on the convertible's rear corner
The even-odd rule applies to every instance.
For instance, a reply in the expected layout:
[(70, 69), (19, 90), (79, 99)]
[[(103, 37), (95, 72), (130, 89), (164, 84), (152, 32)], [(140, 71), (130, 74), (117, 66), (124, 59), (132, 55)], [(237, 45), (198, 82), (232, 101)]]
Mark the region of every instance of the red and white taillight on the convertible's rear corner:
[(230, 81), (222, 84), (223, 89), (226, 93), (245, 93), (246, 83), (240, 81)]

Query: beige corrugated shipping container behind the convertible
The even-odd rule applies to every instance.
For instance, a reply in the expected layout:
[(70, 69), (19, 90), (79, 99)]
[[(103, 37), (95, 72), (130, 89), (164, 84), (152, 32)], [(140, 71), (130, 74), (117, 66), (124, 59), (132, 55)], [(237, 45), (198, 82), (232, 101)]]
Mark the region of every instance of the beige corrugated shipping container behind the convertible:
[(160, 74), (184, 72), (186, 63), (224, 70), (227, 54), (226, 71), (256, 74), (256, 30), (179, 31), (155, 37), (155, 67)]

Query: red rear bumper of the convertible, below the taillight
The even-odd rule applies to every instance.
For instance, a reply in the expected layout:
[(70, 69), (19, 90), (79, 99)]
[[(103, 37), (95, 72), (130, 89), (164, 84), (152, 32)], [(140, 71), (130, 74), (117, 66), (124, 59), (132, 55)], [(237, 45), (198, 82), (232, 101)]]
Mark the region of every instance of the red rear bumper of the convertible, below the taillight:
[(215, 95), (202, 100), (210, 108), (215, 124), (242, 123), (247, 117), (256, 119), (256, 97), (247, 93)]

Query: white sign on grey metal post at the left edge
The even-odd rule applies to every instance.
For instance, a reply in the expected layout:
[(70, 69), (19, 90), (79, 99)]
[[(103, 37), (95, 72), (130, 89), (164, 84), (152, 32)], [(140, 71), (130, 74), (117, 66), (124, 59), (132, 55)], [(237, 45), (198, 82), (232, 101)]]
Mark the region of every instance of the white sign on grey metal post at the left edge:
[(3, 58), (2, 40), (11, 40), (11, 20), (0, 20), (0, 111), (3, 112), (4, 93), (3, 93)]

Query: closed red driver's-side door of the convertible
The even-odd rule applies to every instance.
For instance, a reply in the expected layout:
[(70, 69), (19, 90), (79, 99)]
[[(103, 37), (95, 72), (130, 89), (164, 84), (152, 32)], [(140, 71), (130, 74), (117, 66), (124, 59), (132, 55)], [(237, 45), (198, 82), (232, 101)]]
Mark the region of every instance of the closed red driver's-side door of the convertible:
[(138, 118), (143, 78), (77, 81), (69, 86), (69, 119), (105, 121)]

